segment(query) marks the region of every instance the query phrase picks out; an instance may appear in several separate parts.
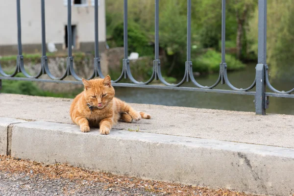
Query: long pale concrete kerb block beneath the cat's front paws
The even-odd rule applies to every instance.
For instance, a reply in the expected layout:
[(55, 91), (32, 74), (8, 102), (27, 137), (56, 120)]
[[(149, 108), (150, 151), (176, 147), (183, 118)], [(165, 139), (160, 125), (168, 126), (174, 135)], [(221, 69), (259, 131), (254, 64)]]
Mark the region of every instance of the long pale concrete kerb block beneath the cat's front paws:
[(147, 179), (223, 187), (254, 194), (294, 194), (294, 149), (185, 136), (28, 122), (12, 127), (11, 155)]

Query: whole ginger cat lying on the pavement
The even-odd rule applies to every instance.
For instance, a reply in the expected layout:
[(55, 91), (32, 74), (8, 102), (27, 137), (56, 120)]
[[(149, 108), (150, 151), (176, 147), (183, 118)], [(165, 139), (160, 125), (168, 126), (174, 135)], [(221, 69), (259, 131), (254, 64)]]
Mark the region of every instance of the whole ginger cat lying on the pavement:
[(82, 132), (89, 132), (90, 126), (99, 125), (100, 134), (107, 135), (119, 120), (131, 123), (133, 119), (139, 121), (141, 118), (151, 118), (114, 97), (115, 91), (109, 75), (104, 79), (82, 78), (82, 81), (85, 89), (73, 99), (70, 110), (73, 123), (79, 125)]

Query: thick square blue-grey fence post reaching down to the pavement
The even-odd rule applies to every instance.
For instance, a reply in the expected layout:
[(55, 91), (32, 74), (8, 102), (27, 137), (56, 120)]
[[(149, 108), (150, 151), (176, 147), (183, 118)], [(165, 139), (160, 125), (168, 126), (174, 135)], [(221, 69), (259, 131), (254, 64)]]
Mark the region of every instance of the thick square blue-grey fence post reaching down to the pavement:
[(256, 65), (255, 113), (266, 115), (266, 80), (267, 64), (267, 0), (258, 0), (258, 64)]

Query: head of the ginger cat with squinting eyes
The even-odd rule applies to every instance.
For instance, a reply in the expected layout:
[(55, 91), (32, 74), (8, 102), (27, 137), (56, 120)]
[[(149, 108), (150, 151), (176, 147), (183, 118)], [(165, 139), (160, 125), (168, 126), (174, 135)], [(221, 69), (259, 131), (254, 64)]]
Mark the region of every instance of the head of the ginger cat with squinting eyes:
[(114, 98), (115, 91), (111, 86), (109, 75), (104, 79), (86, 80), (82, 78), (82, 81), (85, 87), (84, 96), (89, 105), (102, 109)]

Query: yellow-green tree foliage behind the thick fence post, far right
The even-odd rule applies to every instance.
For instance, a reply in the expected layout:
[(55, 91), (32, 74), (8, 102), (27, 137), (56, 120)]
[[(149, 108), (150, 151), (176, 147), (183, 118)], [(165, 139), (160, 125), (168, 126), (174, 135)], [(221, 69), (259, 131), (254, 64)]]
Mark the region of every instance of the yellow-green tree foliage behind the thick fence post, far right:
[[(267, 63), (271, 77), (293, 77), (294, 3), (292, 0), (268, 1)], [(250, 49), (257, 54), (258, 10), (249, 23)]]

